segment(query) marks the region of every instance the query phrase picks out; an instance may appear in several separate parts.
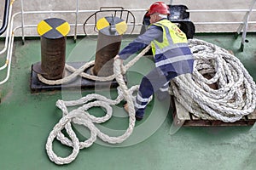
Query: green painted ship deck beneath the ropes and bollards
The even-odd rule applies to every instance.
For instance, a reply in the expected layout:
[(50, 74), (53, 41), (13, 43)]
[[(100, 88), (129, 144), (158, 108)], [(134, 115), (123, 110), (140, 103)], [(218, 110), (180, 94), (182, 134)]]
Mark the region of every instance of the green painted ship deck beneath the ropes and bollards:
[[(134, 37), (125, 37), (122, 46)], [(241, 37), (233, 34), (198, 34), (195, 38), (212, 42), (232, 50), (241, 59), (256, 80), (256, 34), (247, 35), (244, 52), (240, 52)], [(0, 41), (3, 47), (3, 39)], [(79, 38), (74, 43), (67, 39), (67, 62), (93, 59), (96, 40)], [(4, 62), (3, 56), (0, 58)], [(25, 45), (15, 40), (15, 48), (9, 81), (0, 86), (0, 169), (255, 169), (256, 127), (181, 127), (170, 134), (172, 109), (166, 111), (166, 103), (154, 100), (148, 115), (136, 123), (134, 134), (124, 144), (102, 144), (97, 141), (90, 148), (80, 150), (79, 156), (69, 165), (58, 166), (49, 161), (45, 143), (49, 132), (61, 118), (56, 108), (57, 99), (78, 99), (91, 94), (90, 90), (49, 91), (32, 94), (30, 91), (31, 65), (40, 61), (40, 41), (26, 40)], [(140, 82), (145, 71), (150, 70), (150, 59), (144, 59), (127, 74), (129, 86)], [(3, 74), (3, 72), (1, 72)], [(2, 77), (1, 77), (2, 78)], [(111, 94), (115, 94), (114, 89)], [(112, 96), (114, 98), (114, 96)], [(154, 105), (157, 106), (157, 110)], [(161, 107), (163, 105), (163, 107)], [(98, 108), (90, 111), (101, 116)], [(166, 116), (166, 113), (168, 115)], [(149, 116), (150, 115), (150, 116)], [(153, 116), (151, 116), (153, 115)], [(158, 116), (157, 116), (158, 115)], [(123, 116), (123, 117), (119, 117)], [(154, 118), (156, 117), (156, 118)], [(102, 124), (109, 129), (125, 130), (128, 118), (121, 105), (114, 109), (114, 116)], [(78, 127), (79, 133), (83, 133)], [(86, 129), (84, 129), (84, 132)], [(83, 135), (79, 135), (84, 139)], [(119, 147), (116, 147), (119, 146)], [(54, 143), (59, 156), (67, 156), (71, 149)]]

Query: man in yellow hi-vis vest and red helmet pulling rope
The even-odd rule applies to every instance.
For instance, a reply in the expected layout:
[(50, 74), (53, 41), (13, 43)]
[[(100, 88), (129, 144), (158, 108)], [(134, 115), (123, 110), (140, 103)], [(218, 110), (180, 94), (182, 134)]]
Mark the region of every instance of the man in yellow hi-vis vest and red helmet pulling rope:
[[(193, 71), (194, 58), (186, 35), (167, 20), (169, 7), (163, 2), (153, 3), (148, 9), (148, 30), (126, 46), (114, 59), (127, 59), (151, 43), (155, 68), (143, 77), (135, 102), (136, 119), (142, 120), (148, 100), (154, 93), (160, 98), (168, 95), (172, 78)], [(124, 105), (127, 111), (127, 104)]]

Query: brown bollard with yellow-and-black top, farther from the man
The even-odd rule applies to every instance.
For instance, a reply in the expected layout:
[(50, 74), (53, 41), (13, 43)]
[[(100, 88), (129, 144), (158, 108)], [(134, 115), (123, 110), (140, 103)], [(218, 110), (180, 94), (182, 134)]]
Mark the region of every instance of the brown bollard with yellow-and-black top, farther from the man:
[(70, 31), (67, 21), (50, 18), (40, 21), (38, 34), (41, 36), (41, 62), (33, 70), (49, 80), (63, 77), (66, 57), (66, 37)]

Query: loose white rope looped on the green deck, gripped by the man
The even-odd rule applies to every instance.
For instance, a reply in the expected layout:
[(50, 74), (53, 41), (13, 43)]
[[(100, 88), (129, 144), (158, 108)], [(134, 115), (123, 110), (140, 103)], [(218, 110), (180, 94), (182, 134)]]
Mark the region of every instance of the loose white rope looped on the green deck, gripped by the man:
[[(149, 48), (150, 46), (145, 48), (142, 51), (142, 53), (138, 54), (135, 59), (131, 60), (128, 66), (125, 65), (126, 67), (122, 65), (120, 59), (116, 59), (113, 62), (114, 78), (119, 83), (119, 88), (118, 88), (119, 95), (116, 99), (114, 100), (108, 99), (99, 94), (88, 94), (85, 97), (78, 100), (63, 101), (59, 99), (56, 102), (56, 106), (61, 109), (63, 116), (61, 120), (55, 125), (53, 130), (49, 133), (49, 137), (47, 139), (46, 151), (51, 161), (54, 161), (56, 164), (60, 164), (60, 165), (70, 163), (76, 158), (76, 156), (78, 156), (79, 150), (90, 147), (90, 145), (96, 141), (96, 137), (110, 144), (118, 144), (123, 142), (125, 139), (127, 139), (131, 135), (133, 128), (135, 126), (135, 110), (133, 105), (133, 100), (135, 99), (135, 97), (133, 97), (132, 94), (134, 91), (138, 89), (138, 85), (128, 89), (124, 81), (123, 72), (125, 72), (131, 65), (133, 65), (137, 61), (137, 59), (139, 59), (145, 53), (147, 53)], [(108, 121), (112, 116), (112, 107), (110, 105), (117, 105), (123, 99), (125, 99), (128, 104), (128, 111), (129, 111), (129, 117), (130, 117), (129, 127), (126, 129), (124, 134), (118, 137), (111, 137), (111, 136), (108, 136), (108, 134), (102, 133), (95, 126), (94, 123), (102, 123), (102, 122)], [(90, 102), (91, 100), (93, 101)], [(75, 105), (82, 105), (82, 106), (80, 106), (78, 109), (75, 109), (73, 111), (70, 111), (70, 112), (67, 111), (68, 106), (75, 106)], [(106, 115), (102, 117), (91, 116), (88, 113), (88, 110), (94, 106), (100, 106), (104, 108), (104, 110), (106, 111)], [(84, 127), (87, 127), (90, 130), (90, 138), (85, 140), (84, 142), (80, 142), (76, 136), (76, 133), (74, 133), (73, 131), (71, 123), (75, 123), (75, 124), (79, 124)], [(68, 139), (67, 137), (64, 136), (63, 133), (61, 133), (61, 130), (64, 128), (66, 129), (70, 139)], [(73, 152), (67, 157), (57, 156), (53, 151), (53, 147), (52, 147), (54, 139), (58, 139), (59, 141), (61, 141), (61, 144), (66, 144), (70, 147), (73, 147)]]

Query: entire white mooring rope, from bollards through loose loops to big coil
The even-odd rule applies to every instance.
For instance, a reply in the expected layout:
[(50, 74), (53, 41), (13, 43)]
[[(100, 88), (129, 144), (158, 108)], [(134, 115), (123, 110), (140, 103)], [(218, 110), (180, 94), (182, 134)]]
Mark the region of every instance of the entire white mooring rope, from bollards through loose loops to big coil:
[[(241, 119), (242, 116), (252, 113), (255, 109), (255, 82), (253, 82), (253, 78), (248, 74), (239, 59), (236, 59), (234, 55), (224, 48), (219, 48), (212, 43), (201, 40), (189, 40), (189, 47), (195, 56), (193, 74), (174, 78), (171, 82), (170, 94), (174, 94), (177, 101), (189, 112), (203, 119), (211, 120), (216, 118), (224, 122), (235, 122)], [(116, 99), (108, 99), (99, 94), (88, 94), (78, 100), (63, 101), (60, 99), (56, 102), (56, 106), (61, 109), (63, 116), (49, 133), (47, 139), (46, 150), (51, 161), (60, 165), (72, 162), (78, 156), (79, 150), (90, 147), (97, 137), (110, 144), (117, 144), (131, 135), (135, 126), (134, 97), (132, 97), (132, 94), (138, 89), (138, 86), (128, 89), (125, 85), (123, 74), (147, 53), (149, 48), (150, 46), (145, 48), (142, 53), (138, 54), (125, 66), (122, 65), (119, 59), (113, 62), (114, 74), (108, 77), (109, 79), (106, 79), (109, 81), (115, 78), (119, 83), (119, 95)], [(91, 61), (78, 70), (71, 66), (66, 66), (68, 71), (72, 71), (74, 75), (90, 78), (90, 75), (84, 73), (84, 69), (93, 65), (93, 63), (94, 61)], [(212, 78), (203, 77), (202, 75), (205, 74)], [(73, 80), (74, 77), (69, 78)], [(102, 77), (94, 78), (97, 81), (102, 80)], [(57, 80), (49, 81), (49, 83), (56, 84), (65, 81)], [(217, 89), (212, 89), (208, 86), (213, 83), (218, 85)], [(118, 137), (111, 137), (102, 133), (94, 123), (108, 121), (112, 116), (112, 107), (110, 105), (117, 105), (123, 99), (128, 103), (129, 127), (124, 134)], [(73, 111), (67, 111), (67, 107), (75, 105), (82, 106)], [(91, 116), (87, 110), (94, 106), (102, 107), (106, 111), (106, 115), (102, 117)], [(90, 138), (80, 142), (72, 129), (71, 123), (87, 127), (90, 130)], [(69, 135), (69, 139), (61, 133), (64, 128)], [(57, 156), (52, 148), (54, 139), (60, 140), (61, 144), (73, 147), (73, 152), (67, 157)]]

